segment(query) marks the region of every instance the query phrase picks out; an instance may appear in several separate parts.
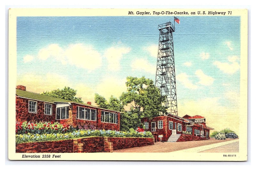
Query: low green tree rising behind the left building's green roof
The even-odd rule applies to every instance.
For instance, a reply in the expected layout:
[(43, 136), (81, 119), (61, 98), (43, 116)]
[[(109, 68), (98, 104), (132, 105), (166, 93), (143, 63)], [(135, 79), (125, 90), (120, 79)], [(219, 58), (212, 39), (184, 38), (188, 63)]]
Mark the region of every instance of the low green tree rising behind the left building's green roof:
[(46, 91), (42, 93), (43, 95), (52, 96), (52, 97), (58, 97), (66, 100), (72, 100), (75, 102), (83, 103), (81, 97), (75, 97), (76, 91), (74, 89), (71, 89), (70, 87), (66, 87), (64, 89), (57, 89), (52, 91)]

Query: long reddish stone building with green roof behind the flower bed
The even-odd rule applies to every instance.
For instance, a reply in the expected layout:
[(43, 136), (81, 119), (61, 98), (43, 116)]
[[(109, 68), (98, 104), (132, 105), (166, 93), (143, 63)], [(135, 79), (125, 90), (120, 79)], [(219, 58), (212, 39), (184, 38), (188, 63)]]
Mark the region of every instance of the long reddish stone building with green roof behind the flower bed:
[(16, 87), (16, 121), (57, 121), (62, 124), (94, 125), (100, 129), (120, 130), (120, 113), (71, 100), (26, 91)]

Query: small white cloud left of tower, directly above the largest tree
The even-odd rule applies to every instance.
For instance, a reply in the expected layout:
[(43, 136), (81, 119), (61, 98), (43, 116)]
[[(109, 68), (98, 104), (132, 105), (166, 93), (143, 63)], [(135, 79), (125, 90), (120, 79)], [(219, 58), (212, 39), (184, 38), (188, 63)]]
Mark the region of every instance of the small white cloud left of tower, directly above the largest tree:
[(150, 64), (145, 59), (135, 59), (131, 65), (132, 70), (146, 71), (148, 73), (156, 73), (156, 66)]

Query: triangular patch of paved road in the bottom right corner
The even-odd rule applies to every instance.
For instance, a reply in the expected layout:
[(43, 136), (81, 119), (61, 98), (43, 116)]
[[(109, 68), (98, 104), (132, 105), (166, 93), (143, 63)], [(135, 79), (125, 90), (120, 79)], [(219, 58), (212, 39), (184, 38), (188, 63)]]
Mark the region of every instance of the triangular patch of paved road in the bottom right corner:
[(239, 142), (229, 143), (202, 152), (239, 152)]

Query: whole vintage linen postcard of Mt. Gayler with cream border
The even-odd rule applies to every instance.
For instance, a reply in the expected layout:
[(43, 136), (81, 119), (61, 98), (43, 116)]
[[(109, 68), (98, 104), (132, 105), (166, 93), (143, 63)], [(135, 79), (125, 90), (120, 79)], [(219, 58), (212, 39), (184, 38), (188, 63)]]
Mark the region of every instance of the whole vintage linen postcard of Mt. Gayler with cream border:
[(246, 9), (9, 9), (10, 160), (247, 160)]

